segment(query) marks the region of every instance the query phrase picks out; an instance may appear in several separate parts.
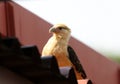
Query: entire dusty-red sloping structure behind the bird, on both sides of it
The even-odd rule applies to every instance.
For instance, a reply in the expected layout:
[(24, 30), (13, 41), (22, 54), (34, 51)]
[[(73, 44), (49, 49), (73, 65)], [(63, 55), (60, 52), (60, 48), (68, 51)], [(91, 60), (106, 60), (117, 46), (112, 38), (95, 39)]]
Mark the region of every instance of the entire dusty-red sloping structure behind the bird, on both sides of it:
[[(0, 33), (2, 37), (17, 37), (23, 45), (37, 45), (41, 52), (50, 37), (48, 29), (51, 26), (52, 24), (15, 2), (0, 2)], [(112, 62), (73, 37), (69, 44), (76, 51), (93, 84), (120, 84), (119, 64)], [(0, 70), (0, 73), (2, 72), (3, 70)], [(0, 75), (0, 80), (1, 78), (2, 75)]]

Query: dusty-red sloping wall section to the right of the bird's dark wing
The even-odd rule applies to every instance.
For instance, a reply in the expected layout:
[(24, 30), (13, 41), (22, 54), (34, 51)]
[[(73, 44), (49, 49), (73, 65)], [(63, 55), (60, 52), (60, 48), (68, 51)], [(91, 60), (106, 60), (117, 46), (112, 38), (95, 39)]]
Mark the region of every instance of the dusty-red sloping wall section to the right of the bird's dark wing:
[(118, 70), (120, 70), (119, 64), (114, 63), (77, 40), (72, 40), (71, 45), (81, 59), (88, 77), (95, 84), (120, 84), (120, 74), (118, 74)]

